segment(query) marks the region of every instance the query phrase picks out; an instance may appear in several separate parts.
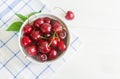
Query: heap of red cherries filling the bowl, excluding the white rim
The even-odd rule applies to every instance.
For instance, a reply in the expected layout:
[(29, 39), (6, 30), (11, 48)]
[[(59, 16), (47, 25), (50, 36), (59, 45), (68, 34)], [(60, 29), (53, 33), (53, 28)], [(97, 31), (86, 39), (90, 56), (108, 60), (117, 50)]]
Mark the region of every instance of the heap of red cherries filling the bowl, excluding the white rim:
[(67, 49), (66, 27), (58, 20), (42, 17), (22, 29), (21, 45), (28, 56), (40, 61), (59, 57)]

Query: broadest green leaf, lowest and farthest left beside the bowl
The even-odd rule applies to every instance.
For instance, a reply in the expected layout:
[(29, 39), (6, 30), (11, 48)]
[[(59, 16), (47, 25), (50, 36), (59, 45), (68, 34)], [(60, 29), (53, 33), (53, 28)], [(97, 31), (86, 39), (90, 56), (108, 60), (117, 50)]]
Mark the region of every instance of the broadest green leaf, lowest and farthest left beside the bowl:
[(19, 32), (20, 27), (22, 26), (22, 22), (14, 22), (12, 23), (9, 28), (7, 29), (7, 31), (17, 31)]

